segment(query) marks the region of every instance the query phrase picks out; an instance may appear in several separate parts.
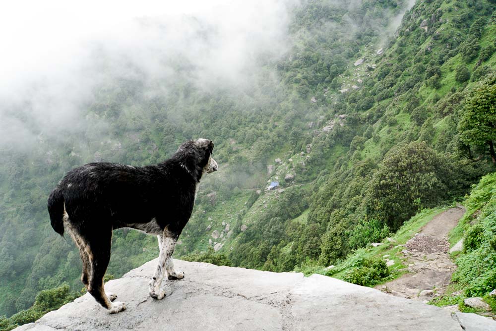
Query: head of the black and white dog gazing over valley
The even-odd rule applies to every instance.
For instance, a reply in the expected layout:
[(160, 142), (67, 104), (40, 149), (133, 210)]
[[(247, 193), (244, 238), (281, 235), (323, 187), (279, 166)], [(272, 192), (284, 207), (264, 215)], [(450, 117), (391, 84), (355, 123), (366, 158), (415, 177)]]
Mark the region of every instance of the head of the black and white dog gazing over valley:
[(180, 159), (181, 165), (186, 170), (200, 180), (204, 173), (212, 173), (219, 168), (219, 165), (212, 158), (214, 143), (208, 139), (189, 140), (183, 143), (176, 157)]

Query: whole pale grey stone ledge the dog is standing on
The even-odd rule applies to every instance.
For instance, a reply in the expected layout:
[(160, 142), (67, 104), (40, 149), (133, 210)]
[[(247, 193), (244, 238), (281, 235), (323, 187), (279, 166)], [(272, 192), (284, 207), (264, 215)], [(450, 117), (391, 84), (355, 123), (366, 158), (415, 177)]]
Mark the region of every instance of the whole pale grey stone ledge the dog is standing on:
[(16, 330), (495, 330), (496, 322), (384, 294), (335, 278), (174, 261), (182, 280), (165, 280), (152, 299), (157, 260), (109, 281), (127, 310), (110, 315), (85, 294)]

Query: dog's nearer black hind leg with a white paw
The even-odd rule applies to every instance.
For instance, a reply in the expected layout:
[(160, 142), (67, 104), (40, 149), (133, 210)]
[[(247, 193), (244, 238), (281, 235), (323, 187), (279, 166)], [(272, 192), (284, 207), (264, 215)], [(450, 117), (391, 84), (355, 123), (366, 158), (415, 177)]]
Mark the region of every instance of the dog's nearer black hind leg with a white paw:
[(124, 302), (111, 302), (117, 295), (104, 291), (103, 276), (107, 271), (110, 261), (110, 246), (112, 241), (112, 230), (108, 235), (90, 236), (86, 245), (90, 260), (91, 274), (88, 284), (88, 292), (101, 304), (109, 310), (109, 313), (115, 314), (123, 311), (126, 307)]

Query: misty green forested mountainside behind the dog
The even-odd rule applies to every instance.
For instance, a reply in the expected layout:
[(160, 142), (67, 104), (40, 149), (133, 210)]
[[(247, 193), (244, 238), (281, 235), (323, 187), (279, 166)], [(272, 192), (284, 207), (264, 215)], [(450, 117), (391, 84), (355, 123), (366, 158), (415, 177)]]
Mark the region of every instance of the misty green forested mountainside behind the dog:
[[(0, 145), (0, 315), (63, 282), (82, 287), (78, 252), (53, 232), (46, 199), (87, 162), (157, 163), (186, 139), (212, 139), (220, 169), (202, 181), (175, 257), (276, 272), (334, 264), (462, 198), (496, 169), (495, 7), (288, 4), (281, 44), (247, 50), (251, 65), (227, 74), (157, 47), (150, 75), (95, 48), (105, 79), (79, 102), (84, 125), (54, 135), (28, 99), (7, 103), (36, 134)], [(194, 27), (186, 39), (215, 44), (215, 26), (182, 19)], [(140, 23), (168, 33), (159, 19)], [(157, 256), (154, 236), (117, 230), (108, 274)]]

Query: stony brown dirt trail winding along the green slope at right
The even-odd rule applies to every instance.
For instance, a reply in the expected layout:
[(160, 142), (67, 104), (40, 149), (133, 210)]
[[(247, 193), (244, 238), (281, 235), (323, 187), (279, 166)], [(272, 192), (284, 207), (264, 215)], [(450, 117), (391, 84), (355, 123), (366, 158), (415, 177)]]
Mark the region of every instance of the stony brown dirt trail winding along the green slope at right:
[(419, 301), (429, 301), (444, 293), (456, 269), (447, 254), (447, 235), (464, 214), (463, 207), (456, 207), (436, 215), (404, 245), (402, 253), (408, 261), (408, 273), (376, 288)]

